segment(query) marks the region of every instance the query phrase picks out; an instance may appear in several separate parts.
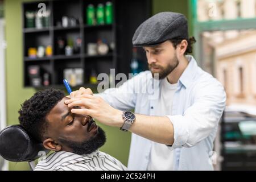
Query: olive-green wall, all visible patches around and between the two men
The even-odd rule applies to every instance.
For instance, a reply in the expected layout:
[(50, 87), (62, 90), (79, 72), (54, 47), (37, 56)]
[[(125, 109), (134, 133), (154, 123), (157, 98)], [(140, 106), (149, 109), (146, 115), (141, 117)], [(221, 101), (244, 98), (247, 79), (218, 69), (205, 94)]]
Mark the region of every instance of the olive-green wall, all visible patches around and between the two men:
[[(24, 0), (5, 1), (7, 125), (18, 123), (20, 104), (36, 92), (36, 90), (32, 88), (23, 88), (22, 2), (24, 2)], [(185, 0), (154, 0), (152, 2), (152, 14), (160, 11), (176, 11), (188, 15), (188, 4)], [(117, 128), (100, 126), (106, 131), (107, 135), (107, 142), (104, 147), (101, 148), (101, 151), (107, 152), (127, 165), (131, 134), (124, 133)], [(10, 162), (10, 170), (28, 169), (27, 163)]]

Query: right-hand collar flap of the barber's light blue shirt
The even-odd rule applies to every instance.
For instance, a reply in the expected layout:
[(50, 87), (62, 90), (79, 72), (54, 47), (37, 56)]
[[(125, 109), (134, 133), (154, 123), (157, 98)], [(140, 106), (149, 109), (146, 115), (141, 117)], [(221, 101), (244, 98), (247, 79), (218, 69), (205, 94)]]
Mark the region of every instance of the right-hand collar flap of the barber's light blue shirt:
[(188, 88), (192, 82), (194, 77), (196, 76), (197, 69), (199, 68), (197, 66), (196, 60), (194, 59), (193, 56), (187, 55), (186, 56), (188, 59), (188, 66), (185, 68), (184, 72), (179, 78), (179, 82), (185, 86), (185, 88)]

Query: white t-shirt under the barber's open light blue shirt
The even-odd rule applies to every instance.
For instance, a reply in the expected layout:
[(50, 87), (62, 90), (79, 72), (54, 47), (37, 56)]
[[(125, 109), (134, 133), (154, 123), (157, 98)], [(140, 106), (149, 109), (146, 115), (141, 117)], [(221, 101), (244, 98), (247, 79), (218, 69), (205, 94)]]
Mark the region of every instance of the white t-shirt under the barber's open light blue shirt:
[[(164, 78), (160, 88), (160, 99), (156, 109), (157, 116), (171, 115), (172, 99), (177, 89), (177, 84), (170, 84), (167, 78)], [(150, 171), (171, 171), (174, 169), (174, 152), (168, 149), (166, 144), (153, 142), (150, 152), (150, 161), (147, 169)]]

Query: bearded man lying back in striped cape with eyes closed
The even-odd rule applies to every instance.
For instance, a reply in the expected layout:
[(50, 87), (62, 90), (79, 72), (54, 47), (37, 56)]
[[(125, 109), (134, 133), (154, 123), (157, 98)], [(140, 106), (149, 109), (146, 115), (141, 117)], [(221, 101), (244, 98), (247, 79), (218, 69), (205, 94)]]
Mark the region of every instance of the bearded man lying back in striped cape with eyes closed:
[(121, 162), (98, 150), (105, 132), (89, 115), (71, 113), (64, 92), (47, 89), (25, 101), (19, 110), (20, 125), (44, 147), (55, 151), (35, 170), (125, 170)]

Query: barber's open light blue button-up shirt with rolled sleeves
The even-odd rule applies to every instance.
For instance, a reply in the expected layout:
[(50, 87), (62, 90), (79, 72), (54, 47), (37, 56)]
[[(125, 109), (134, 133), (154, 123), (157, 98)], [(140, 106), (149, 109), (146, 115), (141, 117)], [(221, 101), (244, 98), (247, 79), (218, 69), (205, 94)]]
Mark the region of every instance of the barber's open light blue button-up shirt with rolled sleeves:
[[(189, 64), (177, 82), (167, 116), (174, 126), (174, 144), (168, 147), (174, 150), (175, 170), (213, 170), (210, 157), (226, 94), (220, 82), (198, 67), (192, 56), (187, 59)], [(161, 84), (162, 80), (156, 81), (145, 71), (98, 96), (116, 109), (155, 115)], [(151, 146), (151, 140), (132, 134), (129, 170), (147, 169)]]

